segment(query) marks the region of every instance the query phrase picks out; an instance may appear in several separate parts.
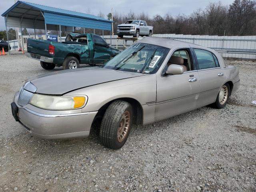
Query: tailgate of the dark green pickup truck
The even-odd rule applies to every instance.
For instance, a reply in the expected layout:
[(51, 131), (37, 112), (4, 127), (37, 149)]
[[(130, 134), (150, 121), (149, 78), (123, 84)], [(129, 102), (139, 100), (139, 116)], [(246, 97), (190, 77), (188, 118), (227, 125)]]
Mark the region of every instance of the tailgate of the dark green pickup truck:
[(28, 41), (27, 41), (28, 52), (40, 54), (44, 56), (50, 56), (49, 44), (50, 42), (46, 40), (28, 38)]

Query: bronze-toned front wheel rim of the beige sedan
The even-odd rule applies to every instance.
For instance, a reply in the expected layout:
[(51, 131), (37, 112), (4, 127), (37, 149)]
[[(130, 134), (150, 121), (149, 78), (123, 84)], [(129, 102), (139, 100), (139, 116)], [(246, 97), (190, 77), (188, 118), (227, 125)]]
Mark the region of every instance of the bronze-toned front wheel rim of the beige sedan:
[(118, 142), (122, 142), (126, 138), (129, 128), (130, 128), (130, 112), (125, 111), (122, 114), (122, 118), (117, 130)]

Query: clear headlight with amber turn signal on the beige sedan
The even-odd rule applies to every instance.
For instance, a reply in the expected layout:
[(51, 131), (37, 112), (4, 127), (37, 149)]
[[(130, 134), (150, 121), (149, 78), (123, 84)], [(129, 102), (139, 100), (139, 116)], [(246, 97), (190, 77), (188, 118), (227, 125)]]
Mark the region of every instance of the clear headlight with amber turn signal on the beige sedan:
[(30, 104), (47, 110), (69, 110), (81, 108), (86, 104), (86, 96), (51, 96), (34, 94)]

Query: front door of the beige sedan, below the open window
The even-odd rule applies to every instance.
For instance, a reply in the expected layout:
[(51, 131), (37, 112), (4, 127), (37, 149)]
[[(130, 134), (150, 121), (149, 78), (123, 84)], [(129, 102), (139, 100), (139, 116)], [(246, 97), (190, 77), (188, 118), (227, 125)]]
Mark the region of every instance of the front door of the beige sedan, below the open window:
[[(172, 56), (176, 56), (176, 50)], [(190, 63), (188, 71), (180, 75), (164, 75), (167, 64), (161, 76), (157, 76), (156, 94), (156, 121), (170, 118), (196, 108), (196, 100), (200, 89), (200, 80), (196, 70), (195, 59), (190, 48), (183, 49), (187, 52), (186, 58)], [(182, 57), (182, 56), (180, 56)], [(170, 57), (171, 58), (171, 57)]]

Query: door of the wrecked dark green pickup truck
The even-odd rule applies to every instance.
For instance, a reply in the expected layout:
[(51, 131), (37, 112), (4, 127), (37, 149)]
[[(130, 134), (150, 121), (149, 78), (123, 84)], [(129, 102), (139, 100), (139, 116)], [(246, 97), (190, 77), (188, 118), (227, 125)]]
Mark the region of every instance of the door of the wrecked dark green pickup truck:
[(92, 35), (94, 45), (94, 64), (104, 63), (111, 58), (110, 49), (107, 47), (107, 43), (100, 36)]

